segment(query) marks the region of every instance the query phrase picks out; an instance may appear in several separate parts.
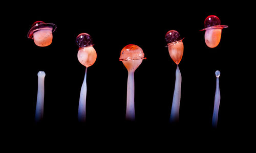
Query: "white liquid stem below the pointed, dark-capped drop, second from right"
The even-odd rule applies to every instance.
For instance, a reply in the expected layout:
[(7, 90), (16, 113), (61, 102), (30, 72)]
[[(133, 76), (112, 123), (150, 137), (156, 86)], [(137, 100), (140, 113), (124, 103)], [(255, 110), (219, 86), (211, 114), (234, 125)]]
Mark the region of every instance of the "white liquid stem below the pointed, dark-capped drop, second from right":
[(170, 113), (170, 122), (177, 122), (179, 120), (180, 94), (181, 94), (181, 73), (180, 73), (179, 66), (177, 65), (173, 105)]

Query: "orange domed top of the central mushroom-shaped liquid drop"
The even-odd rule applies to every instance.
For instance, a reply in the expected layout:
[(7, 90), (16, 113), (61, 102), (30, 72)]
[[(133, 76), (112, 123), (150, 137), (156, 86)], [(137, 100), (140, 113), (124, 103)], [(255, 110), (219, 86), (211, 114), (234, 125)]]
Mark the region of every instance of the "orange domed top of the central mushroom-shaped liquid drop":
[(129, 44), (121, 50), (120, 61), (145, 59), (141, 47), (135, 44)]

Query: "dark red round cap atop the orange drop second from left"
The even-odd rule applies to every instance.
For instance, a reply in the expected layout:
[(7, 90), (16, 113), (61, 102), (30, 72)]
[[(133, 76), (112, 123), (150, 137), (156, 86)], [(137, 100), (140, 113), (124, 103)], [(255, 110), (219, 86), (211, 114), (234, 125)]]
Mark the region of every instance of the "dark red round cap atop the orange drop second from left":
[(92, 37), (87, 33), (81, 33), (76, 37), (76, 44), (79, 48), (93, 45)]

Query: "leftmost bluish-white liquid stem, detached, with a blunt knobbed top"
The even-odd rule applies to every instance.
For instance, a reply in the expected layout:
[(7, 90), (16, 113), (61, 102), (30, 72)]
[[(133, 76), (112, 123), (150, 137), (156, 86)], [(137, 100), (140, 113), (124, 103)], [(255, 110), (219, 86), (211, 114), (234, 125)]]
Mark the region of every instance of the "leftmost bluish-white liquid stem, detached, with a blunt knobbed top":
[(37, 100), (35, 110), (35, 122), (38, 122), (44, 116), (44, 98), (45, 98), (45, 76), (44, 71), (39, 71), (38, 76), (38, 89), (37, 89)]

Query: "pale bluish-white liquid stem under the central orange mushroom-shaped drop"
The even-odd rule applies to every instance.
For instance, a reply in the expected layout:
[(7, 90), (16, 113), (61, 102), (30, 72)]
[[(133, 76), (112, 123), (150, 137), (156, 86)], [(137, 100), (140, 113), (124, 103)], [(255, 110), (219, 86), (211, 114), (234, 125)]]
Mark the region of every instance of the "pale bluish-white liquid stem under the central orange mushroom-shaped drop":
[(134, 107), (134, 71), (128, 72), (127, 79), (127, 102), (126, 102), (126, 120), (135, 120), (135, 107)]

